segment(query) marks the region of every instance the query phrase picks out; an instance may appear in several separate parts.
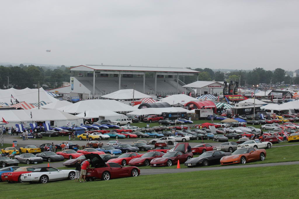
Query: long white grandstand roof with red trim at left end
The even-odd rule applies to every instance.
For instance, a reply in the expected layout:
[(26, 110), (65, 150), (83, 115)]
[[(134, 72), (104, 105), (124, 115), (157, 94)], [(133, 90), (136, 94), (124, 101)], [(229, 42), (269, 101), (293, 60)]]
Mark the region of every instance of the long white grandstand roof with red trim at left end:
[(152, 72), (189, 72), (199, 73), (199, 71), (191, 70), (183, 67), (148, 67), (148, 66), (116, 66), (116, 65), (80, 65), (71, 67), (71, 70), (117, 70), (117, 71), (152, 71)]

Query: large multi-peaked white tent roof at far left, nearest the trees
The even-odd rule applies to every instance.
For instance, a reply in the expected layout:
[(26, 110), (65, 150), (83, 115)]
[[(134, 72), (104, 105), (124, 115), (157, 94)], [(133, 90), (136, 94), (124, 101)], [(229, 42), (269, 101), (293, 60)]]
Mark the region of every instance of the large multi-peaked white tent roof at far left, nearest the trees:
[[(38, 89), (0, 89), (1, 102), (6, 102), (11, 104), (10, 100), (15, 101), (17, 99), (19, 102), (26, 101), (29, 104), (34, 104), (38, 102)], [(11, 97), (13, 96), (13, 98)], [(58, 99), (52, 97), (43, 88), (39, 89), (39, 101), (45, 101), (46, 103), (51, 103), (58, 101)]]

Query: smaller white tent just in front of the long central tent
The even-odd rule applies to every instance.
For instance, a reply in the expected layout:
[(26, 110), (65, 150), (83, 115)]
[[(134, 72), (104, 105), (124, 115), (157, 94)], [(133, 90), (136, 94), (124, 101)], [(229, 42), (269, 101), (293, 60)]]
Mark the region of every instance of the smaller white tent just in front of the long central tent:
[(86, 116), (84, 116), (84, 112), (76, 116), (85, 119), (100, 118), (100, 119), (107, 119), (111, 121), (117, 120), (118, 118), (127, 118), (126, 115), (118, 114), (110, 110), (89, 110), (86, 111)]

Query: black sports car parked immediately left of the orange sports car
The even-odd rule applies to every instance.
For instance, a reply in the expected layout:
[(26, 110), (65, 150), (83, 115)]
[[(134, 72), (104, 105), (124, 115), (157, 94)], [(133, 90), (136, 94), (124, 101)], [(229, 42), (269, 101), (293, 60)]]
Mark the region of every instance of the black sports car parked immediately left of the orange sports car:
[(231, 155), (231, 153), (223, 151), (207, 151), (196, 158), (190, 158), (185, 162), (185, 166), (197, 166), (202, 164), (203, 166), (209, 166), (210, 164), (219, 164), (220, 159), (223, 156)]

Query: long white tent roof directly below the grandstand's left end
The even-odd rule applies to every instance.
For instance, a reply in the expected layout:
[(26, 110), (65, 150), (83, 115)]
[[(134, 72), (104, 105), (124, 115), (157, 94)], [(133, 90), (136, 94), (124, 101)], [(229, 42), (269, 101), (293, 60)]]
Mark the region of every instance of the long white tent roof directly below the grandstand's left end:
[(129, 112), (136, 110), (136, 107), (131, 107), (116, 100), (83, 100), (74, 104), (58, 108), (58, 110), (68, 113), (84, 113), (89, 110), (111, 110), (115, 112)]

